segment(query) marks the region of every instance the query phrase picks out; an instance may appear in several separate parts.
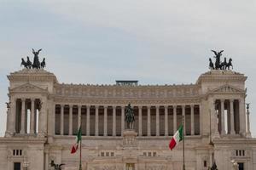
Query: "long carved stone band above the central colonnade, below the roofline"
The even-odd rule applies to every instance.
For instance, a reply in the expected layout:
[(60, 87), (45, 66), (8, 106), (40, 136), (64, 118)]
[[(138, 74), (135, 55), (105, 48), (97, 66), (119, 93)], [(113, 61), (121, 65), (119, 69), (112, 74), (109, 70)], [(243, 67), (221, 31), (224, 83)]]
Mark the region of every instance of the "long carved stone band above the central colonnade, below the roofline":
[(82, 97), (82, 98), (188, 98), (199, 96), (200, 88), (196, 85), (180, 86), (138, 86), (119, 87), (111, 85), (55, 85), (55, 96), (57, 97)]

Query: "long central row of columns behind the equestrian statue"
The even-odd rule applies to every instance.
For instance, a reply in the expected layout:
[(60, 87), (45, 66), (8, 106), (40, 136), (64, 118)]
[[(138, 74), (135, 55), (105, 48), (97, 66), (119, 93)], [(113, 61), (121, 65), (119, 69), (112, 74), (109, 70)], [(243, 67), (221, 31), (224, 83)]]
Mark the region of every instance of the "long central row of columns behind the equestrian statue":
[[(177, 131), (177, 126), (181, 124), (181, 116), (185, 117), (185, 134), (195, 135), (200, 133), (199, 105), (135, 105), (133, 109), (136, 116), (138, 136), (173, 135)], [(197, 116), (196, 126), (195, 111)], [(186, 116), (188, 117), (186, 118)], [(82, 128), (84, 135), (87, 136), (122, 135), (125, 129), (125, 105), (55, 105), (55, 134), (74, 135), (81, 122), (82, 127), (84, 127)], [(160, 123), (164, 125), (160, 125)], [(188, 127), (186, 127), (186, 123), (189, 124)], [(109, 126), (112, 127), (110, 128), (112, 132), (109, 132)], [(99, 133), (100, 127), (102, 127), (102, 133)], [(120, 129), (117, 129), (119, 127)], [(161, 131), (160, 127), (164, 129)], [(145, 128), (147, 128), (147, 132), (143, 133)]]

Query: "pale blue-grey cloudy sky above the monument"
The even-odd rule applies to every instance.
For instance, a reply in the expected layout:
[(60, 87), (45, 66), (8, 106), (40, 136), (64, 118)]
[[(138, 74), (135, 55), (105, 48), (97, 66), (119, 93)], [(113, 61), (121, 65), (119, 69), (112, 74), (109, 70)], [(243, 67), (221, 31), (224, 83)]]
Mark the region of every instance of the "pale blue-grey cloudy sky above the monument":
[[(73, 2), (73, 3), (70, 3)], [(9, 82), (20, 58), (43, 48), (59, 82), (195, 83), (211, 49), (224, 49), (248, 79), (256, 134), (256, 2), (254, 0), (0, 0), (0, 136)], [(254, 125), (253, 125), (254, 124)]]

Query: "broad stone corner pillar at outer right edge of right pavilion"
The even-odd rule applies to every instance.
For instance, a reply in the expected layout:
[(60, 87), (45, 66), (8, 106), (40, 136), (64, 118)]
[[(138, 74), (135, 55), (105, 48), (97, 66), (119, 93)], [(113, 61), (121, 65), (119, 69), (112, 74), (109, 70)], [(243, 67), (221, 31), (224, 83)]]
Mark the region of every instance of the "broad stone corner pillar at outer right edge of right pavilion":
[(239, 99), (239, 127), (242, 135), (246, 133), (246, 114), (245, 114), (245, 100)]

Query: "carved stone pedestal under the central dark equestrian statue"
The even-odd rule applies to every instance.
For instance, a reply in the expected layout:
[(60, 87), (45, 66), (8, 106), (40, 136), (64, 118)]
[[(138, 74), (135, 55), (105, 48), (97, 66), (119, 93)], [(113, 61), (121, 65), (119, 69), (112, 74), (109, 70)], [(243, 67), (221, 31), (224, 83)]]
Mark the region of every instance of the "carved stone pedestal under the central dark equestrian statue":
[(137, 132), (134, 129), (125, 129), (123, 135), (124, 148), (137, 147)]

